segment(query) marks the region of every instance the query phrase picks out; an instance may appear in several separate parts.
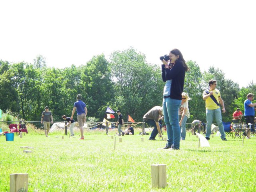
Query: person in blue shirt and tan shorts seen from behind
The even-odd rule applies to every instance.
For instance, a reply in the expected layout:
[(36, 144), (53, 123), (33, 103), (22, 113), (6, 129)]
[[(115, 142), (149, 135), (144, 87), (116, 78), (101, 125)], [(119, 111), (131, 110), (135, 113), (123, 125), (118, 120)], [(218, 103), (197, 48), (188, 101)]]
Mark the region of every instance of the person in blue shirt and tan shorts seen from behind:
[(81, 101), (82, 95), (78, 94), (76, 96), (77, 101), (74, 103), (74, 108), (72, 110), (72, 115), (70, 119), (73, 119), (75, 111), (77, 112), (77, 121), (81, 132), (80, 140), (84, 140), (84, 122), (86, 122), (87, 108), (86, 104)]

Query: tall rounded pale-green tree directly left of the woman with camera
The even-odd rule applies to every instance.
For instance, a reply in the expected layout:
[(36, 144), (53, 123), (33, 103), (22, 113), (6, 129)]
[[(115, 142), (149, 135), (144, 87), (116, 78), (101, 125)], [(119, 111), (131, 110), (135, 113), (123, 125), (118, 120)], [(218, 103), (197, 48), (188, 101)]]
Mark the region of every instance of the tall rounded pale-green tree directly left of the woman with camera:
[(121, 110), (126, 120), (130, 114), (136, 121), (153, 106), (162, 106), (160, 67), (146, 64), (144, 54), (133, 48), (114, 51), (110, 56), (112, 79), (115, 83), (113, 106)]

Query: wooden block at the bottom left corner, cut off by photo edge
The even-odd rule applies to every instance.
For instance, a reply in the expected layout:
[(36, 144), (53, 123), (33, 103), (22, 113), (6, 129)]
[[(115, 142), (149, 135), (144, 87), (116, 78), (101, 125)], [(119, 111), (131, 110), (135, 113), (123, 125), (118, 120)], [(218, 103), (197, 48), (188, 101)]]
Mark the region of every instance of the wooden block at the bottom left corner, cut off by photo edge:
[(10, 174), (10, 192), (28, 191), (28, 174), (13, 173)]

